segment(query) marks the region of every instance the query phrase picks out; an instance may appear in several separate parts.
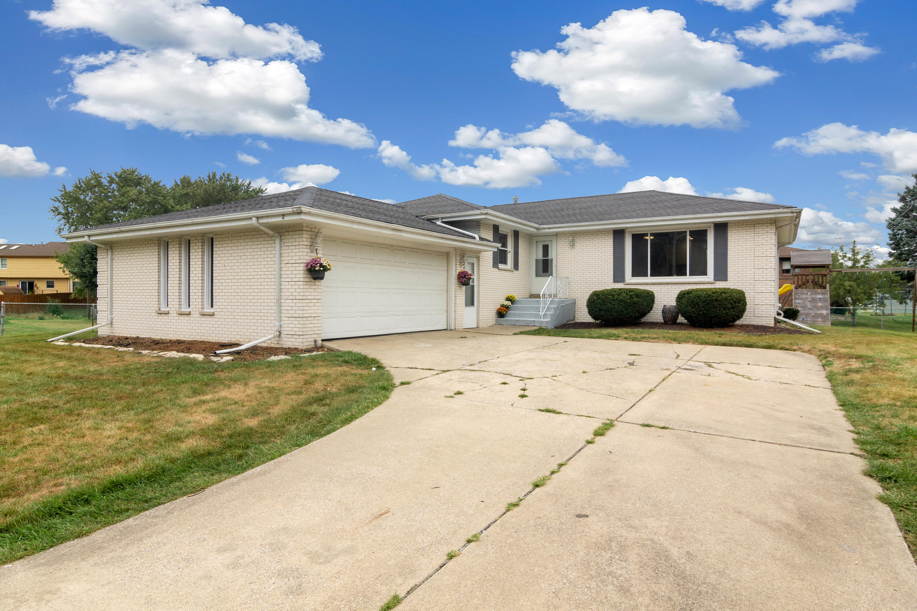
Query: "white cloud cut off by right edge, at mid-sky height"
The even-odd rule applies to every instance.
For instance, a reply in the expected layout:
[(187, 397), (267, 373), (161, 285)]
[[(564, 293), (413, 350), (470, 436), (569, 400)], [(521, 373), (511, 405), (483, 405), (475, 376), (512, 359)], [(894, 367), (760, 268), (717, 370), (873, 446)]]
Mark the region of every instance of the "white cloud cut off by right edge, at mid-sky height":
[(802, 136), (785, 137), (775, 147), (793, 147), (803, 155), (871, 153), (899, 174), (917, 172), (917, 132), (889, 129), (888, 134), (866, 132), (857, 125), (829, 123)]

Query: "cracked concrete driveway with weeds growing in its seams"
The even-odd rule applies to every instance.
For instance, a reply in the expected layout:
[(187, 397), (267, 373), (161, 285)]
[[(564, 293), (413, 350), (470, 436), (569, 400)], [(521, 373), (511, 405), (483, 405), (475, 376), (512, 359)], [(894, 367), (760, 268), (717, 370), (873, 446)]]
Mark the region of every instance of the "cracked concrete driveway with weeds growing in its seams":
[[(0, 569), (0, 607), (375, 611), (417, 584), (400, 609), (917, 607), (917, 568), (812, 356), (513, 331), (329, 343), (412, 384)], [(601, 419), (617, 423), (584, 443)]]

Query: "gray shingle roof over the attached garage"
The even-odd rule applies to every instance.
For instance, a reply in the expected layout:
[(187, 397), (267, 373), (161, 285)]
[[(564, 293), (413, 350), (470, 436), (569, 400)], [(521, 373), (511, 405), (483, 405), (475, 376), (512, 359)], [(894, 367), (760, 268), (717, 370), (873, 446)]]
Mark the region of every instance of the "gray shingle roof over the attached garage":
[[(472, 204), (473, 205), (473, 204)], [(133, 221), (124, 221), (123, 223), (113, 223), (93, 227), (86, 230), (87, 234), (104, 229), (114, 229), (116, 227), (133, 227), (147, 224), (169, 223), (171, 221), (192, 221), (195, 219), (204, 219), (211, 216), (223, 216), (225, 214), (259, 213), (289, 208), (291, 206), (305, 206), (317, 208), (331, 213), (348, 214), (358, 218), (369, 219), (370, 221), (380, 221), (381, 223), (398, 224), (403, 227), (412, 227), (431, 231), (436, 234), (450, 235), (453, 237), (468, 238), (468, 235), (453, 231), (442, 225), (422, 219), (403, 207), (394, 206), (391, 203), (376, 202), (367, 200), (356, 195), (347, 193), (338, 193), (337, 191), (327, 191), (318, 187), (305, 187), (295, 191), (285, 191), (273, 195), (261, 195), (250, 200), (241, 202), (218, 203), (215, 206), (206, 206), (204, 208), (194, 208), (193, 210), (182, 210), (177, 213), (157, 214)], [(76, 233), (76, 232), (74, 232)]]

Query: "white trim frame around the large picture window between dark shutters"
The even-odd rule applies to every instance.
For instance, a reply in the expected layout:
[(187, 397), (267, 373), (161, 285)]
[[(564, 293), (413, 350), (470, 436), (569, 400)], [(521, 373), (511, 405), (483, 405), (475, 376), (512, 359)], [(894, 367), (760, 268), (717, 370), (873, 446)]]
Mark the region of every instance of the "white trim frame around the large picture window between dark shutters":
[[(702, 259), (702, 262), (706, 264), (706, 269), (703, 271), (702, 275), (695, 272), (695, 269), (691, 269), (691, 261), (693, 259), (694, 265), (699, 266), (701, 261), (698, 260), (694, 254), (692, 248), (692, 241), (695, 232), (706, 232), (706, 257)], [(654, 236), (658, 234), (658, 236)], [(673, 235), (674, 234), (674, 235)], [(646, 256), (646, 265), (642, 269), (642, 273), (638, 276), (634, 276), (635, 267), (634, 267), (634, 253), (633, 253), (633, 244), (634, 238), (633, 235), (639, 235), (641, 238), (646, 239), (646, 255), (641, 253), (641, 256)], [(679, 241), (684, 240), (684, 262), (681, 263), (680, 260), (669, 261), (668, 268), (672, 269), (673, 267), (676, 270), (679, 270), (683, 265), (685, 272), (679, 275), (671, 276), (653, 276), (651, 275), (654, 271), (654, 260), (652, 259), (652, 244), (653, 239), (656, 237), (660, 238), (660, 244), (662, 240), (665, 239), (672, 240), (672, 245), (674, 248), (678, 247)], [(698, 240), (700, 244), (702, 241)], [(678, 253), (676, 253), (678, 254)], [(663, 267), (659, 261), (656, 259), (656, 270), (658, 272), (660, 267)], [(659, 228), (640, 228), (640, 229), (628, 229), (624, 234), (624, 270), (626, 272), (625, 281), (633, 284), (657, 284), (660, 282), (713, 282), (713, 224), (691, 224), (683, 225), (677, 227), (659, 227)], [(646, 275), (643, 275), (645, 273)]]

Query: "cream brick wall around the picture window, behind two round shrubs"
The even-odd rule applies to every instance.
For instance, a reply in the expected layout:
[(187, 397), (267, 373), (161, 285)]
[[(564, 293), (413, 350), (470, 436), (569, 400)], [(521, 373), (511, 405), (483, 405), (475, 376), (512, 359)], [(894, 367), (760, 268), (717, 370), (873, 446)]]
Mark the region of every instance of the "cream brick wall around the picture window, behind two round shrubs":
[[(569, 238), (573, 237), (573, 245)], [(558, 276), (569, 277), (570, 297), (576, 300), (576, 320), (590, 321), (586, 299), (596, 289), (633, 286), (656, 293), (656, 305), (644, 319), (662, 322), (662, 306), (675, 303), (682, 289), (729, 287), (746, 292), (748, 308), (739, 324), (774, 323), (777, 280), (777, 231), (774, 221), (743, 221), (729, 224), (729, 280), (710, 283), (614, 284), (612, 231), (559, 233)]]

